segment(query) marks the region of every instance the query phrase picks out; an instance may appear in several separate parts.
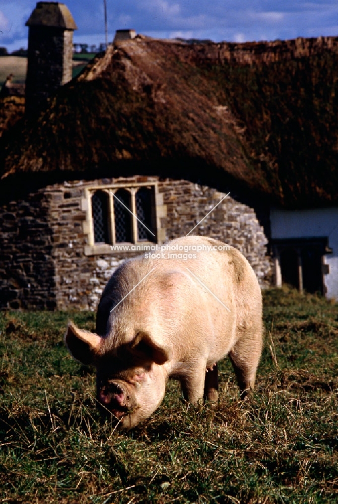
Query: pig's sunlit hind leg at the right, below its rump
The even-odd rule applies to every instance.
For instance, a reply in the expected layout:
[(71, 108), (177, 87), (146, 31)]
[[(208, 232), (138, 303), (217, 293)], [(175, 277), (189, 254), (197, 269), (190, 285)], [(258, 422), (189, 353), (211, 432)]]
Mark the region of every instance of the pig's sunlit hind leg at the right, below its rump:
[(256, 370), (261, 354), (261, 332), (243, 335), (229, 352), (237, 382), (244, 399), (255, 386)]

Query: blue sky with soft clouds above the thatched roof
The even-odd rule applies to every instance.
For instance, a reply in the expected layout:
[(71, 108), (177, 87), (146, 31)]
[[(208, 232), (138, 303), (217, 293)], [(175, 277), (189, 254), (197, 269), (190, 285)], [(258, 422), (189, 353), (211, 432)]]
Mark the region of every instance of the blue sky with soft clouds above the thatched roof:
[[(75, 42), (104, 42), (103, 0), (65, 0)], [(35, 0), (0, 0), (0, 46), (27, 47)], [(338, 35), (337, 0), (107, 0), (108, 33), (134, 28), (153, 37), (275, 40)]]

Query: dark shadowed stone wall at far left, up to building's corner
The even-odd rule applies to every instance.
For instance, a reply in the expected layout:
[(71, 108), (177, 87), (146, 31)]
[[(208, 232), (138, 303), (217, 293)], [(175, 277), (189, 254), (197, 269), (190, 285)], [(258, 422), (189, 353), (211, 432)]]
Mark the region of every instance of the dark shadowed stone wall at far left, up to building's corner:
[(0, 308), (56, 307), (48, 210), (43, 192), (0, 207)]

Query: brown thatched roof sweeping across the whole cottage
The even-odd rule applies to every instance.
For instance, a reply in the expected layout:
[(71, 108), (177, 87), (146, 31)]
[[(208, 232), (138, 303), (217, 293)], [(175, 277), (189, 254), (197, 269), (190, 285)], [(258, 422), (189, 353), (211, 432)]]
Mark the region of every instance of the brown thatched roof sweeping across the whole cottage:
[(337, 44), (309, 40), (309, 55), (296, 43), (293, 58), (285, 42), (265, 53), (243, 44), (244, 63), (239, 44), (136, 37), (109, 47), (35, 122), (4, 136), (3, 181), (172, 171), (288, 206), (336, 204)]

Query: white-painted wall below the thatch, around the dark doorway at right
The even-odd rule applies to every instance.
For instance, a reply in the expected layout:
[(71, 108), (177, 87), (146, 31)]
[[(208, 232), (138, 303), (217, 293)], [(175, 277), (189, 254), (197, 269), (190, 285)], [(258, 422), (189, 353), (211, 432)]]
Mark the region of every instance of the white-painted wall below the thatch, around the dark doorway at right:
[(338, 299), (338, 208), (270, 211), (271, 238), (327, 237), (332, 254), (324, 256), (329, 267), (324, 275), (326, 297)]

